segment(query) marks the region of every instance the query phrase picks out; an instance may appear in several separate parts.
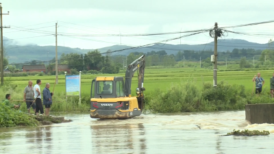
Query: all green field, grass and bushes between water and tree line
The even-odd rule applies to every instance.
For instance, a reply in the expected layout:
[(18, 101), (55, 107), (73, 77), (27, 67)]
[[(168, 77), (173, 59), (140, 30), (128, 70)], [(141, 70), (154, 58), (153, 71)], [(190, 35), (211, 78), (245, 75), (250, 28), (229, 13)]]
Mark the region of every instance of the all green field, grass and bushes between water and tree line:
[[(220, 110), (243, 110), (247, 103), (273, 103), (270, 97), (269, 78), (272, 77), (273, 68), (252, 68), (235, 71), (219, 67), (218, 87), (212, 87), (213, 71), (206, 68), (197, 68), (199, 63), (190, 63), (194, 67), (185, 68), (161, 68), (150, 66), (145, 71), (145, 99), (146, 110), (151, 112), (199, 112)], [(229, 67), (233, 68), (233, 65)], [(261, 70), (259, 70), (261, 69)], [(269, 69), (269, 70), (268, 70)], [(227, 71), (229, 70), (229, 71)], [(251, 79), (258, 72), (261, 73), (266, 83), (260, 96), (252, 95), (253, 82)], [(82, 103), (79, 105), (79, 97), (65, 97), (64, 75), (58, 76), (58, 84), (55, 85), (53, 105), (51, 112), (86, 112), (90, 108), (91, 81), (97, 76), (125, 75), (125, 70), (119, 74), (82, 75)], [(2, 87), (1, 98), (6, 93), (12, 94), (13, 100), (23, 99), (23, 90), (27, 81), (31, 79), (34, 84), (36, 79), (42, 80), (41, 90), (45, 84), (51, 84), (53, 90), (55, 76), (27, 76), (5, 77), (5, 85)], [(135, 94), (137, 86), (136, 75), (132, 79), (132, 94)], [(11, 101), (12, 102), (12, 101)], [(25, 102), (21, 103), (21, 111), (27, 112)], [(31, 110), (32, 111), (32, 110)], [(33, 112), (33, 111), (32, 111)]]

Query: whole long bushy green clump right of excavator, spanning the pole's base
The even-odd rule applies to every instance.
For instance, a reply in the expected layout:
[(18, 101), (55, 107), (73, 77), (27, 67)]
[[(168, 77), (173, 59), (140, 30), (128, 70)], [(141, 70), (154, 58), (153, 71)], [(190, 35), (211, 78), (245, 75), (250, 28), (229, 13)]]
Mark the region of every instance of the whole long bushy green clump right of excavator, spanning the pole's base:
[(166, 91), (156, 90), (146, 102), (146, 109), (153, 113), (242, 110), (247, 104), (247, 94), (241, 85), (221, 81), (213, 87), (189, 79)]

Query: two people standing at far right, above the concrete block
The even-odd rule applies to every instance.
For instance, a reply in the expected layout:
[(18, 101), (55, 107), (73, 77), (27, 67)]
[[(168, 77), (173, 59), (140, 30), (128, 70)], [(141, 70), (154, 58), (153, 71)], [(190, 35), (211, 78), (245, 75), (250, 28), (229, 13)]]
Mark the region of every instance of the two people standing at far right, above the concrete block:
[[(264, 79), (261, 77), (261, 74), (258, 73), (257, 76), (254, 75), (252, 81), (254, 82), (256, 86), (256, 94), (260, 94), (262, 92), (262, 86), (264, 86)], [(274, 73), (273, 76), (270, 79), (270, 93), (271, 97), (274, 97)]]

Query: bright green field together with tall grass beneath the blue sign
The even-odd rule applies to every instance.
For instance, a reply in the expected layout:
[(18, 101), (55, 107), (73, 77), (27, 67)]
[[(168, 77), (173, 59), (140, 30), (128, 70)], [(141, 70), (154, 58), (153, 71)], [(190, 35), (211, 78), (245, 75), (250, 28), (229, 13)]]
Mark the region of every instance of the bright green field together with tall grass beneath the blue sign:
[[(253, 90), (253, 82), (251, 81), (254, 75), (257, 75), (258, 72), (261, 73), (261, 76), (265, 79), (264, 92), (268, 92), (270, 90), (269, 79), (272, 77), (273, 70), (231, 70), (226, 71), (228, 69), (225, 66), (220, 66), (217, 77), (217, 82), (220, 83), (222, 80), (227, 82), (227, 84), (235, 84), (242, 85), (245, 87), (245, 92), (247, 94), (251, 94)], [(119, 74), (103, 74), (103, 75), (82, 75), (81, 79), (81, 95), (82, 95), (82, 106), (79, 106), (77, 103), (79, 102), (79, 97), (68, 97), (67, 103), (63, 103), (66, 101), (65, 97), (65, 81), (64, 75), (58, 76), (58, 84), (55, 85), (54, 88), (54, 96), (53, 96), (53, 105), (51, 111), (73, 111), (73, 110), (81, 110), (84, 111), (89, 108), (89, 96), (90, 96), (90, 86), (92, 79), (99, 76), (116, 76), (116, 77), (124, 77), (125, 70), (121, 70)], [(45, 88), (45, 84), (49, 82), (51, 84), (51, 92), (54, 87), (55, 76), (27, 76), (27, 77), (5, 77), (5, 81), (10, 82), (11, 84), (15, 84), (17, 86), (16, 92), (13, 92), (12, 99), (20, 99), (23, 100), (23, 90), (25, 86), (27, 86), (27, 82), (32, 80), (34, 84), (36, 84), (36, 79), (41, 79), (42, 85), (40, 86), (41, 90)], [(180, 83), (186, 83), (188, 79), (195, 80), (195, 85), (198, 88), (202, 89), (203, 84), (206, 82), (212, 83), (213, 85), (213, 70), (206, 68), (159, 68), (159, 67), (148, 67), (145, 70), (145, 81), (144, 87), (146, 88), (145, 95), (153, 98), (154, 95), (157, 95), (159, 92), (163, 92), (168, 90), (171, 85), (179, 85)], [(134, 75), (132, 79), (132, 95), (135, 94), (135, 88), (137, 86), (137, 73)], [(160, 91), (159, 91), (160, 90)], [(3, 92), (0, 94), (0, 97), (4, 99), (4, 94), (9, 91)], [(259, 100), (260, 101), (260, 100)], [(23, 103), (23, 102), (21, 102)], [(23, 103), (25, 104), (25, 103)], [(26, 110), (24, 106), (22, 106), (21, 110)]]

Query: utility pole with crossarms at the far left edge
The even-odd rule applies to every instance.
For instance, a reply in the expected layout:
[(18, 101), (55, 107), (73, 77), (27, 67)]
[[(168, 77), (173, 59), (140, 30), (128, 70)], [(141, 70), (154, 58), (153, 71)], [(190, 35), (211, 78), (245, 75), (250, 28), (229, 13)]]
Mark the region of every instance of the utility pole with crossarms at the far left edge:
[[(0, 16), (1, 16), (1, 66), (0, 66), (0, 71), (1, 71), (1, 86), (4, 84), (4, 49), (3, 49), (3, 28), (10, 28), (10, 27), (3, 27), (3, 13), (2, 13), (2, 3), (0, 3)], [(10, 14), (10, 12), (8, 12)]]

